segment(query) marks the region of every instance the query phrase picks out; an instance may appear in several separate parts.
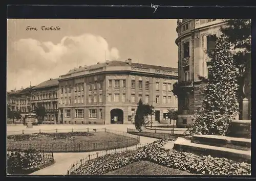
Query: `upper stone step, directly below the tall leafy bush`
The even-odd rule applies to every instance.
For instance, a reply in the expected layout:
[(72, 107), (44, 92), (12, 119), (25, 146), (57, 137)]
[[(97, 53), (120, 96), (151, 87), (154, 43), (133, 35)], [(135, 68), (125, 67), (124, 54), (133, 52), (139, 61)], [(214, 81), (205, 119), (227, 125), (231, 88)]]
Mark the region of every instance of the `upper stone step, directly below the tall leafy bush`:
[(251, 139), (219, 135), (194, 135), (191, 142), (241, 150), (250, 150), (251, 148)]

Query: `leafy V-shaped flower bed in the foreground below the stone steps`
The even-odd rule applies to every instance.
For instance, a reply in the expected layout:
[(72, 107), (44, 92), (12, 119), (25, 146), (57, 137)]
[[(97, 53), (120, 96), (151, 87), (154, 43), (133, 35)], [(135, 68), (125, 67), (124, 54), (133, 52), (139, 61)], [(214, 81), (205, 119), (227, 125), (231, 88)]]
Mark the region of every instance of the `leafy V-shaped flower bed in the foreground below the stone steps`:
[[(173, 140), (173, 139), (172, 139)], [(90, 165), (83, 165), (75, 172), (84, 175), (101, 175), (123, 166), (138, 162), (151, 161), (159, 165), (184, 170), (195, 174), (211, 175), (249, 175), (251, 164), (238, 163), (225, 158), (214, 158), (211, 156), (200, 156), (194, 153), (167, 150), (163, 145), (169, 141), (157, 140), (147, 146), (139, 147), (137, 151), (128, 156), (100, 157)], [(101, 160), (102, 159), (102, 160)], [(93, 160), (94, 161), (94, 160)], [(94, 165), (96, 165), (94, 167)]]

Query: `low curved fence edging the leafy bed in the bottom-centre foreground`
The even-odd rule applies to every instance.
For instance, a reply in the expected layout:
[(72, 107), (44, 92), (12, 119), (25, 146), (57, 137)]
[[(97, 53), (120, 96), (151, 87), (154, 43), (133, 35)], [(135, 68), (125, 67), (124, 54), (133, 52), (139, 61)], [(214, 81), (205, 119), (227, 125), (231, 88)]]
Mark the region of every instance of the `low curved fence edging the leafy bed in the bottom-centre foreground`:
[(124, 151), (135, 151), (137, 150), (139, 147), (142, 146), (146, 146), (150, 143), (144, 143), (144, 144), (137, 144), (131, 147), (125, 147), (125, 148), (119, 148), (119, 149), (111, 149), (111, 150), (104, 150), (104, 151), (99, 151), (99, 152), (95, 152), (95, 153), (91, 153), (88, 154), (88, 156), (83, 157), (81, 159), (79, 159), (78, 161), (74, 162), (73, 164), (70, 165), (70, 167), (67, 170), (67, 175), (72, 175), (72, 173), (77, 170), (79, 167), (81, 167), (82, 165), (85, 165), (88, 161), (99, 158), (99, 157), (103, 157), (106, 154), (115, 154), (115, 153), (121, 153)]

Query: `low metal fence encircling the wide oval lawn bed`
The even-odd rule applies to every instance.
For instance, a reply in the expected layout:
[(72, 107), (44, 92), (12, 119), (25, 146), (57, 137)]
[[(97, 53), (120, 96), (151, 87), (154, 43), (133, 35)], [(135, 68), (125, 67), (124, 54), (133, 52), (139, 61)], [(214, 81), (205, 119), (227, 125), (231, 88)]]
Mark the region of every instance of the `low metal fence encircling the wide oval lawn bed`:
[[(23, 135), (25, 134), (25, 130), (19, 131), (22, 132)], [(140, 137), (137, 135), (132, 135), (129, 133), (121, 132), (121, 131), (114, 131), (107, 128), (83, 128), (83, 129), (69, 129), (69, 130), (32, 130), (26, 132), (33, 132), (33, 133), (54, 133), (54, 134), (61, 134), (61, 133), (74, 133), (74, 132), (88, 132), (88, 133), (95, 133), (95, 132), (107, 132), (112, 133), (115, 135), (120, 135), (125, 137), (123, 142), (115, 142), (115, 141), (107, 141), (107, 142), (80, 142), (80, 143), (14, 143), (14, 142), (7, 142), (7, 150), (25, 150), (25, 149), (35, 149), (37, 151), (44, 151), (44, 152), (86, 152), (86, 151), (97, 151), (97, 150), (109, 150), (109, 149), (116, 149), (122, 147), (129, 147), (132, 145), (136, 145), (140, 142)]]

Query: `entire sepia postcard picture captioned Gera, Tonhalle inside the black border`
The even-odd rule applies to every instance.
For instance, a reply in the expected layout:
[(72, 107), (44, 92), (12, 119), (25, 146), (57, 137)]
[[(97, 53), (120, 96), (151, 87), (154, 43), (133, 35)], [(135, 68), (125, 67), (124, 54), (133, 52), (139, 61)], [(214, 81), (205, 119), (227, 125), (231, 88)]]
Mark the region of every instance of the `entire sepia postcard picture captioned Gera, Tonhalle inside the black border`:
[(8, 176), (251, 175), (250, 19), (7, 19), (6, 94)]

